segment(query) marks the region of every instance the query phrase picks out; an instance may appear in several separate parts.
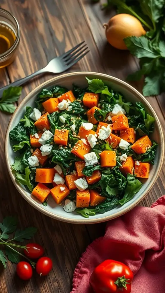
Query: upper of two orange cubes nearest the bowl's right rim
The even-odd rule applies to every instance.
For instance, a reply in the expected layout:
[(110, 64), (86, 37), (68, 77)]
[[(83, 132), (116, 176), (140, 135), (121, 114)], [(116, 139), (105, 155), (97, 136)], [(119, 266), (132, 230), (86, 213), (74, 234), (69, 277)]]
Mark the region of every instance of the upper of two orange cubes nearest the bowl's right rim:
[(134, 144), (132, 144), (131, 149), (137, 154), (144, 154), (152, 146), (152, 142), (147, 135), (140, 137)]

